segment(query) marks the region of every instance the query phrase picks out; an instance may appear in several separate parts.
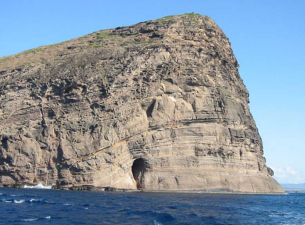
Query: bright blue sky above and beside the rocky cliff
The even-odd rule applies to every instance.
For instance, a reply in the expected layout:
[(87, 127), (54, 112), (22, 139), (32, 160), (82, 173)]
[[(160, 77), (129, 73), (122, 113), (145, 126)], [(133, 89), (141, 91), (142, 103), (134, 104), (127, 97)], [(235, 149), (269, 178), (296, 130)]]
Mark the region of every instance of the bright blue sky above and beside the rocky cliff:
[(0, 11), (0, 57), (168, 15), (210, 16), (240, 64), (267, 165), (280, 183), (305, 182), (304, 0), (2, 0)]

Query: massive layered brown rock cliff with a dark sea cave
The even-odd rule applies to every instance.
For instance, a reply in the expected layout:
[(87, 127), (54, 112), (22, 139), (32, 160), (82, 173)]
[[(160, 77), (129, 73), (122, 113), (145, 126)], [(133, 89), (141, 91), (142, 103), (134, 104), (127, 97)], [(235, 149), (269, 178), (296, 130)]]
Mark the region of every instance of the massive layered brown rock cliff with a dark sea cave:
[(282, 193), (230, 42), (169, 16), (0, 59), (0, 182)]

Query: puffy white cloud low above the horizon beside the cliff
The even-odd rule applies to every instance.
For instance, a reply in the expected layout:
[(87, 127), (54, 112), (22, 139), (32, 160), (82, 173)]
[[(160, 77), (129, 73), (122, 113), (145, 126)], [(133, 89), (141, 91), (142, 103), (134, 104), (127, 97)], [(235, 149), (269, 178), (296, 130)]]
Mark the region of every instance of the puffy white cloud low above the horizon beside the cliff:
[(286, 168), (276, 168), (271, 166), (274, 171), (274, 179), (281, 184), (299, 184), (305, 183), (305, 173), (292, 169), (291, 166)]

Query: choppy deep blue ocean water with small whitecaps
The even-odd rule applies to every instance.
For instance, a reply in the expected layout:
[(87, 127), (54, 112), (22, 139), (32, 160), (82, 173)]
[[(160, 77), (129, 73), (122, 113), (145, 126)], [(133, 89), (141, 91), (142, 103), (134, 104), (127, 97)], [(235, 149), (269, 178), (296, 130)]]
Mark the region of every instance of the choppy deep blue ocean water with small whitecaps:
[(0, 188), (0, 224), (305, 224), (305, 194)]

